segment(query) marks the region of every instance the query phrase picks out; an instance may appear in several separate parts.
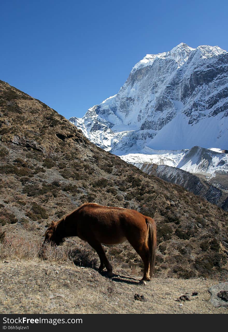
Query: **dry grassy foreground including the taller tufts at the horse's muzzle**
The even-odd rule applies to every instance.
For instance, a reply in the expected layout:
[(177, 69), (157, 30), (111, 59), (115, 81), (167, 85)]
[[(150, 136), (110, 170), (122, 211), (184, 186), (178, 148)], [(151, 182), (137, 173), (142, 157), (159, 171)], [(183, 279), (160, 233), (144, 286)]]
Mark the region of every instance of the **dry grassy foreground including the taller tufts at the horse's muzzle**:
[[(109, 255), (117, 265), (114, 272), (118, 274), (108, 279), (105, 273), (98, 273), (97, 255), (92, 249), (86, 244), (72, 249), (71, 244), (66, 241), (58, 247), (50, 244), (41, 247), (41, 241), (7, 235), (0, 229), (0, 311), (20, 314), (227, 312), (210, 303), (208, 288), (217, 284), (217, 279), (157, 277), (142, 286), (136, 268), (127, 269), (135, 255), (130, 250), (126, 252), (128, 264), (124, 263), (122, 270), (118, 266), (122, 263), (116, 258), (122, 255), (122, 248), (113, 246), (109, 248)], [(198, 295), (191, 296), (195, 291)], [(185, 293), (189, 293), (190, 301), (175, 301)], [(144, 300), (136, 301), (134, 294), (143, 295)]]

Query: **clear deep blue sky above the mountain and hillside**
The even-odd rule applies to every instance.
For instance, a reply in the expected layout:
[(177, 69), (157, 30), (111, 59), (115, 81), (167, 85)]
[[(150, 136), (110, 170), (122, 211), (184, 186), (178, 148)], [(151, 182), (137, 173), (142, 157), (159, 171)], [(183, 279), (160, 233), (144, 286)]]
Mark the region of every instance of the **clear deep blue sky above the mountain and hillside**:
[(146, 54), (228, 50), (228, 1), (1, 1), (0, 79), (66, 118), (118, 92)]

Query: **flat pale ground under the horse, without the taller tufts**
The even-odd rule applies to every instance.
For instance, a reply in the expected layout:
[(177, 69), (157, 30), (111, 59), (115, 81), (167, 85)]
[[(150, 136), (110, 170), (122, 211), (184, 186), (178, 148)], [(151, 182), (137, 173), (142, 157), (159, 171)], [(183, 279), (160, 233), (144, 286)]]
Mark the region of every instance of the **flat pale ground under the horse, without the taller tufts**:
[[(0, 262), (1, 313), (228, 313), (210, 303), (211, 279), (112, 279), (91, 268), (43, 261)], [(193, 292), (198, 294), (192, 296)], [(186, 294), (190, 300), (175, 301)], [(144, 296), (135, 300), (135, 294)], [(142, 299), (142, 298), (141, 298)]]

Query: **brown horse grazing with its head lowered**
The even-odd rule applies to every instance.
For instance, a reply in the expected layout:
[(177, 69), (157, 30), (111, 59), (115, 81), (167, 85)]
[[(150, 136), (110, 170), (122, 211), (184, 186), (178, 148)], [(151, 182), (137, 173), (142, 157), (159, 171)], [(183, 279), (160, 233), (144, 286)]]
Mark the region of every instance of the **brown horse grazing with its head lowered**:
[(59, 245), (64, 237), (69, 236), (80, 237), (97, 251), (101, 261), (99, 272), (106, 267), (109, 277), (113, 276), (113, 268), (101, 244), (128, 240), (144, 263), (140, 282), (146, 284), (153, 276), (157, 237), (155, 221), (150, 217), (135, 210), (85, 203), (61, 220), (52, 221), (44, 242)]

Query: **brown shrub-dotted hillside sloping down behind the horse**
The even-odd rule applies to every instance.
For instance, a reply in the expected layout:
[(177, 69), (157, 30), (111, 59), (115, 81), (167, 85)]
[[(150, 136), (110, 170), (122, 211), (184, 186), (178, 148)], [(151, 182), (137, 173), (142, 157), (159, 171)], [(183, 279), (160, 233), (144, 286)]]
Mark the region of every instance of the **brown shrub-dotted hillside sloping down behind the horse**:
[[(2, 81), (0, 158), (6, 234), (41, 239), (51, 220), (86, 201), (129, 207), (157, 223), (157, 275), (226, 275), (227, 212), (101, 150), (53, 109)], [(128, 243), (106, 249), (114, 271), (141, 274)]]

